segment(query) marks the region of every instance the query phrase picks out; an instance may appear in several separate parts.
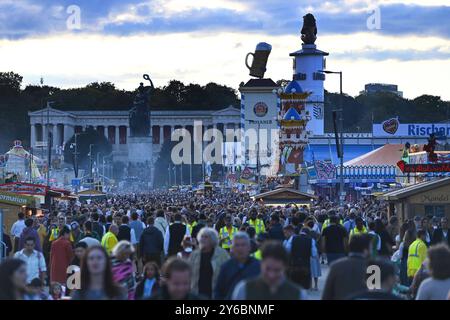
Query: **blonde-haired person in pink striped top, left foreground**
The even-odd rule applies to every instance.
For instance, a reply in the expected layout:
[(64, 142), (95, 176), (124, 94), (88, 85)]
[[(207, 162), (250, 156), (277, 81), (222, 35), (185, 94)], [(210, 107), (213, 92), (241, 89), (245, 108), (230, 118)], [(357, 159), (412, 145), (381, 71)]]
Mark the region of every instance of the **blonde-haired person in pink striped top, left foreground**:
[(134, 246), (131, 242), (119, 241), (112, 250), (111, 266), (113, 279), (128, 290), (128, 300), (134, 300), (136, 277), (133, 263)]

